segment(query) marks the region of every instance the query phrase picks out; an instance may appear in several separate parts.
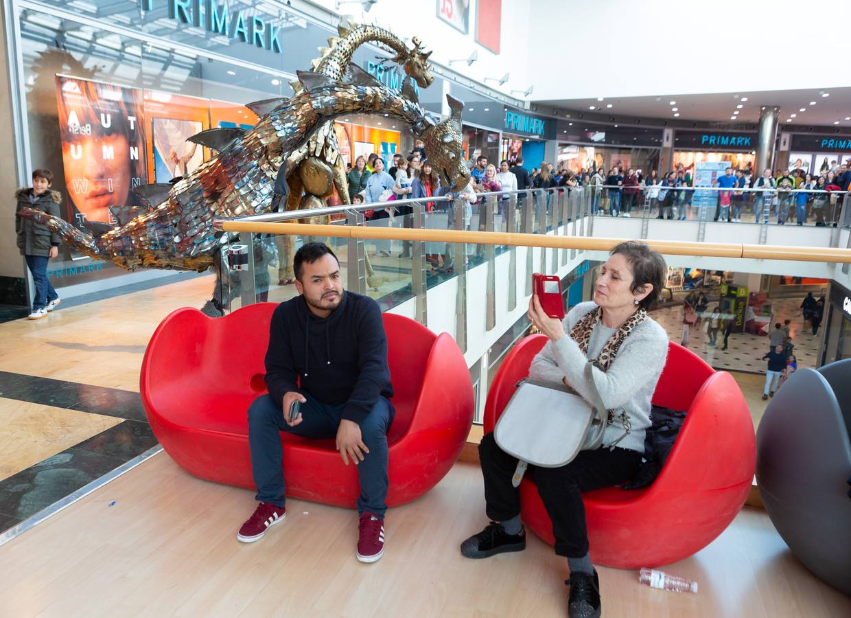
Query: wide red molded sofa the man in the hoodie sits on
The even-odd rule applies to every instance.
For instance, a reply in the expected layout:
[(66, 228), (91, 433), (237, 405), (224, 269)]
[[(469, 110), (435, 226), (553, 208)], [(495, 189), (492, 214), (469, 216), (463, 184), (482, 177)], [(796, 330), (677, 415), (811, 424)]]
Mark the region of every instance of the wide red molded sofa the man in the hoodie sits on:
[[(254, 489), (248, 405), (266, 392), (263, 359), (275, 303), (224, 318), (184, 308), (159, 325), (142, 362), (140, 391), (151, 428), (186, 472)], [(396, 417), (388, 434), (388, 506), (413, 501), (453, 466), (470, 432), (470, 372), (452, 337), (409, 318), (383, 315)], [(334, 440), (281, 434), (287, 495), (354, 507), (357, 468)]]

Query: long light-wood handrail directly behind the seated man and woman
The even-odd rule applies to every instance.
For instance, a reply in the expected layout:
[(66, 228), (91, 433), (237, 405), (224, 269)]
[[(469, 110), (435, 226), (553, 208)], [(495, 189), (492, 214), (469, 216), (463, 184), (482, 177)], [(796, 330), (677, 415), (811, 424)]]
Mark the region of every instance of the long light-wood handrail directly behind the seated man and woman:
[[(293, 234), (315, 237), (365, 238), (375, 240), (414, 240), (426, 243), (505, 244), (512, 247), (546, 249), (584, 249), (610, 251), (631, 238), (547, 236), (508, 232), (467, 232), (462, 230), (419, 230), (407, 227), (328, 226), (309, 223), (260, 223), (258, 221), (222, 221), (226, 232)], [(851, 263), (851, 249), (831, 247), (780, 247), (743, 243), (697, 243), (677, 240), (642, 241), (663, 255), (748, 258), (751, 260), (792, 260), (805, 262)]]

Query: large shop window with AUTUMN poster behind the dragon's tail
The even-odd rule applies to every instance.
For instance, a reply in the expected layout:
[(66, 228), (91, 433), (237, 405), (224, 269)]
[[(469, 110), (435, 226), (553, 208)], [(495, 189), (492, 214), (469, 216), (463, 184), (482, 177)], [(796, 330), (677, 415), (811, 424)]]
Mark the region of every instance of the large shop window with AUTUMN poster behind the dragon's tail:
[[(31, 164), (54, 171), (62, 215), (76, 226), (114, 224), (109, 207), (138, 205), (135, 186), (196, 169), (210, 153), (189, 135), (249, 128), (256, 117), (244, 103), (292, 93), (266, 73), (34, 10), (20, 12), (20, 35)], [(126, 273), (63, 245), (48, 275), (61, 288)]]

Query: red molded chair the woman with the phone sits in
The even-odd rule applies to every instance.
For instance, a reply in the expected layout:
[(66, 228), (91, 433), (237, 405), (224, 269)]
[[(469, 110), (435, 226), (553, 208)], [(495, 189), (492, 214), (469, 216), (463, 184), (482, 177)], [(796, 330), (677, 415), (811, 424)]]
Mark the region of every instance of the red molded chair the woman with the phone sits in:
[[(505, 358), (488, 392), (485, 432), (493, 431), (545, 342), (544, 335), (527, 337)], [(688, 411), (686, 421), (649, 487), (583, 495), (597, 564), (638, 569), (687, 558), (727, 528), (751, 489), (757, 456), (753, 422), (733, 376), (670, 342), (653, 403)], [(534, 480), (523, 480), (520, 495), (523, 523), (552, 545), (552, 524)]]

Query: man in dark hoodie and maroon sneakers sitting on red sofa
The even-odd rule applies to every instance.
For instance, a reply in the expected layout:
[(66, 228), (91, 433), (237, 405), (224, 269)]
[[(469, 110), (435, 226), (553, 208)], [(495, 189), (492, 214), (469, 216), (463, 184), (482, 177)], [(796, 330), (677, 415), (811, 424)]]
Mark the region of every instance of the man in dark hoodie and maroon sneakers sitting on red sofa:
[[(283, 447), (279, 432), (302, 438), (336, 438), (346, 466), (357, 466), (361, 495), (357, 559), (384, 553), (387, 510), (387, 432), (395, 410), (387, 335), (378, 304), (344, 292), (340, 262), (323, 243), (308, 243), (293, 260), (299, 296), (272, 314), (266, 352), (266, 386), (248, 409), (251, 472), (260, 504), (237, 540), (260, 540), (283, 521)], [(300, 411), (290, 419), (290, 407)]]

